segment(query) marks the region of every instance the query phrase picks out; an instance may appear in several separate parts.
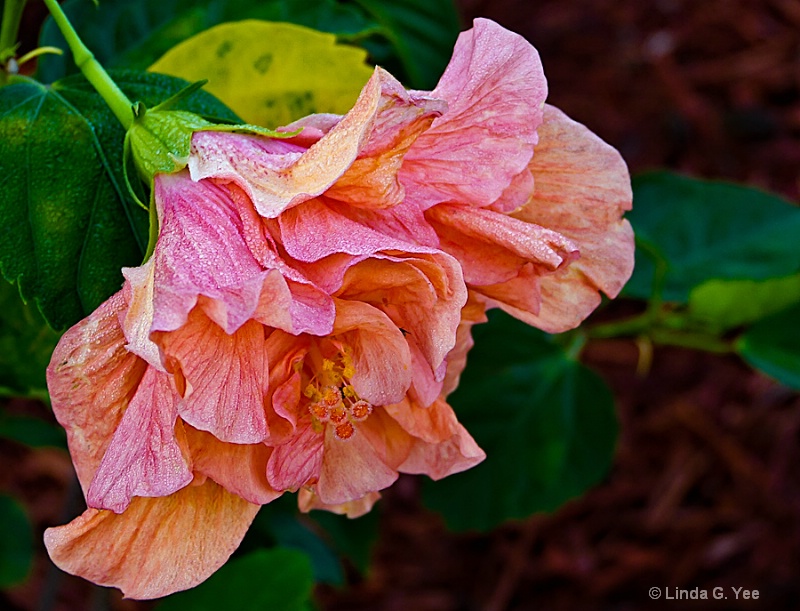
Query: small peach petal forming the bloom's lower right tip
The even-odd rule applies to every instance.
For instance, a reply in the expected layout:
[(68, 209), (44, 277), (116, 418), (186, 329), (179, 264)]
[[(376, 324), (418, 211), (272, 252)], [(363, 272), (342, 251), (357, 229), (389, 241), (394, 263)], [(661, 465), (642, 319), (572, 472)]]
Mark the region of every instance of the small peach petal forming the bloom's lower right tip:
[(403, 402), (388, 406), (386, 412), (416, 438), (408, 458), (398, 466), (402, 473), (424, 473), (436, 480), (474, 467), (486, 458), (443, 399), (428, 408)]

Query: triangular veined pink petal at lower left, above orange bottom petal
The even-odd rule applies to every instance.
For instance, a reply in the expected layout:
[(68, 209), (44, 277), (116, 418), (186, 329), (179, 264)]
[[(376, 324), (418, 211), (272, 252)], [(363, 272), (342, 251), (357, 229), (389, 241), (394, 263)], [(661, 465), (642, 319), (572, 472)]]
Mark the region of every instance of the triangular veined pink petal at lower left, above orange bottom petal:
[(167, 496), (192, 481), (177, 399), (170, 376), (148, 367), (89, 486), (90, 507), (122, 513), (134, 496)]

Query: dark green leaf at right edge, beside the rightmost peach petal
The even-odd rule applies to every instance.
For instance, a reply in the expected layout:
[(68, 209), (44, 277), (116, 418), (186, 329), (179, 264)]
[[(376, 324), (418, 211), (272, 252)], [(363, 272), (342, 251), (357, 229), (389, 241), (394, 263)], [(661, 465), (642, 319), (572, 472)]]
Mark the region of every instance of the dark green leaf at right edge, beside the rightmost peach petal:
[(633, 192), (627, 217), (640, 247), (625, 287), (630, 297), (651, 297), (654, 259), (666, 264), (663, 298), (680, 303), (708, 280), (766, 280), (800, 270), (800, 208), (776, 195), (669, 172), (635, 177)]

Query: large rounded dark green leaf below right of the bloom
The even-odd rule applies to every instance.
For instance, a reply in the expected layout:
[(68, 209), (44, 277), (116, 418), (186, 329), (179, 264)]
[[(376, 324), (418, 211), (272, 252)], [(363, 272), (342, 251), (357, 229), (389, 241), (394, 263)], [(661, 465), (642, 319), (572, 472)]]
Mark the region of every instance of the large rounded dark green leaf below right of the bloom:
[(485, 451), (464, 473), (425, 482), (423, 498), (455, 530), (486, 531), (553, 511), (607, 473), (617, 421), (607, 385), (553, 338), (493, 312), (450, 402)]

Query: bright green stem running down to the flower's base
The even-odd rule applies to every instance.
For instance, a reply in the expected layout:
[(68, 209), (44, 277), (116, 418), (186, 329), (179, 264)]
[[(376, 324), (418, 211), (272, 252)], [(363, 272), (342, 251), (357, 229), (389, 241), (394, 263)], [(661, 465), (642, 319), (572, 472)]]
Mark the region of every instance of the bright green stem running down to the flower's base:
[(100, 62), (94, 58), (92, 52), (83, 44), (58, 2), (56, 0), (44, 0), (44, 3), (47, 5), (50, 14), (53, 15), (58, 29), (64, 35), (75, 58), (75, 65), (78, 66), (86, 79), (97, 90), (100, 97), (105, 100), (111, 112), (122, 123), (122, 126), (125, 129), (130, 128), (133, 125), (133, 104), (131, 101), (122, 93), (117, 84), (111, 80), (111, 77), (108, 76)]

